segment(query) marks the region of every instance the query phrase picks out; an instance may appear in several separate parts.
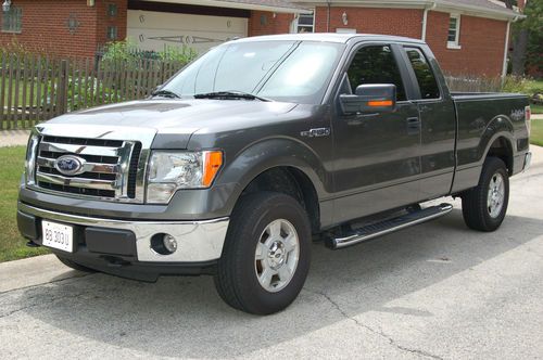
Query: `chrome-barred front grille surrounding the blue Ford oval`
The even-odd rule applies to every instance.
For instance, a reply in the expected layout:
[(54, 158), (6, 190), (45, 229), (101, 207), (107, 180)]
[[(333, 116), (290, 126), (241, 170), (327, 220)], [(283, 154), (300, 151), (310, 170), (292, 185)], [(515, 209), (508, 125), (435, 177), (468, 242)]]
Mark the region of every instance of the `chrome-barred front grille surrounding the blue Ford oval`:
[[(138, 141), (43, 136), (37, 151), (36, 184), (101, 200), (135, 198), (140, 153)], [(58, 167), (56, 159), (63, 155), (79, 158), (83, 167), (76, 175)]]

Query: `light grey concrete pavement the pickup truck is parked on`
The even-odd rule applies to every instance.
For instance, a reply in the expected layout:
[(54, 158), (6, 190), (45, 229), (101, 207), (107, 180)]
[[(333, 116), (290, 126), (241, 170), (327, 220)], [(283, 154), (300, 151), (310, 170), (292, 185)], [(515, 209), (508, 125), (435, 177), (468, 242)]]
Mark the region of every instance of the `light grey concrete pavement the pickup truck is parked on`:
[(452, 215), (379, 241), (313, 247), (299, 299), (266, 318), (211, 278), (140, 283), (52, 256), (0, 265), (0, 357), (543, 358), (543, 151), (512, 181), (509, 215), (477, 233)]

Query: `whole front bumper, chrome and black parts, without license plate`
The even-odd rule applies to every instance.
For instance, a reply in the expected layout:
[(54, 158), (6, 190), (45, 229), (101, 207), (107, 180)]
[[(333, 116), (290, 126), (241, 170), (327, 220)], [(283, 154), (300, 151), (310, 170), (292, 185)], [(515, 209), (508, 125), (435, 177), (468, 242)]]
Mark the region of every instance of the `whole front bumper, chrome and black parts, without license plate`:
[[(198, 265), (216, 261), (223, 252), (229, 219), (204, 221), (136, 221), (85, 217), (18, 203), (21, 233), (41, 244), (41, 220), (74, 226), (74, 253), (59, 255), (86, 260), (118, 259), (117, 263)], [(151, 248), (151, 237), (167, 233), (177, 240), (177, 250), (161, 255)]]

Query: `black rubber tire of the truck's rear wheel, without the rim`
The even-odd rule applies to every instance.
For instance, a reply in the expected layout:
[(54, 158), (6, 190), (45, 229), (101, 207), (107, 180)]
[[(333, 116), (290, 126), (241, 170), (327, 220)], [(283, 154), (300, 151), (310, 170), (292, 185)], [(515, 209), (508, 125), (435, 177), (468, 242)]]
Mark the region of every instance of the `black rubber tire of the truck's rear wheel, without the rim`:
[[(489, 189), (491, 181), (501, 176), (504, 183), (504, 198), (501, 210), (491, 216), (489, 210)], [(462, 194), (462, 214), (468, 228), (478, 231), (494, 231), (504, 221), (509, 203), (509, 175), (505, 163), (497, 157), (488, 157), (484, 162), (481, 178), (477, 188)]]

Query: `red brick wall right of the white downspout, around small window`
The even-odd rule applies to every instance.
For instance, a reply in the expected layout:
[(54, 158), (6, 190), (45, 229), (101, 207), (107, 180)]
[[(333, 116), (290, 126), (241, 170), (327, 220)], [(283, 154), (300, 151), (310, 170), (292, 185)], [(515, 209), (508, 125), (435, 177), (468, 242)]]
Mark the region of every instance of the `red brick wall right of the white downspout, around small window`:
[(446, 48), (449, 13), (430, 12), (426, 41), (441, 67), (452, 74), (500, 76), (503, 70), (507, 23), (463, 15), (460, 18), (460, 50)]

